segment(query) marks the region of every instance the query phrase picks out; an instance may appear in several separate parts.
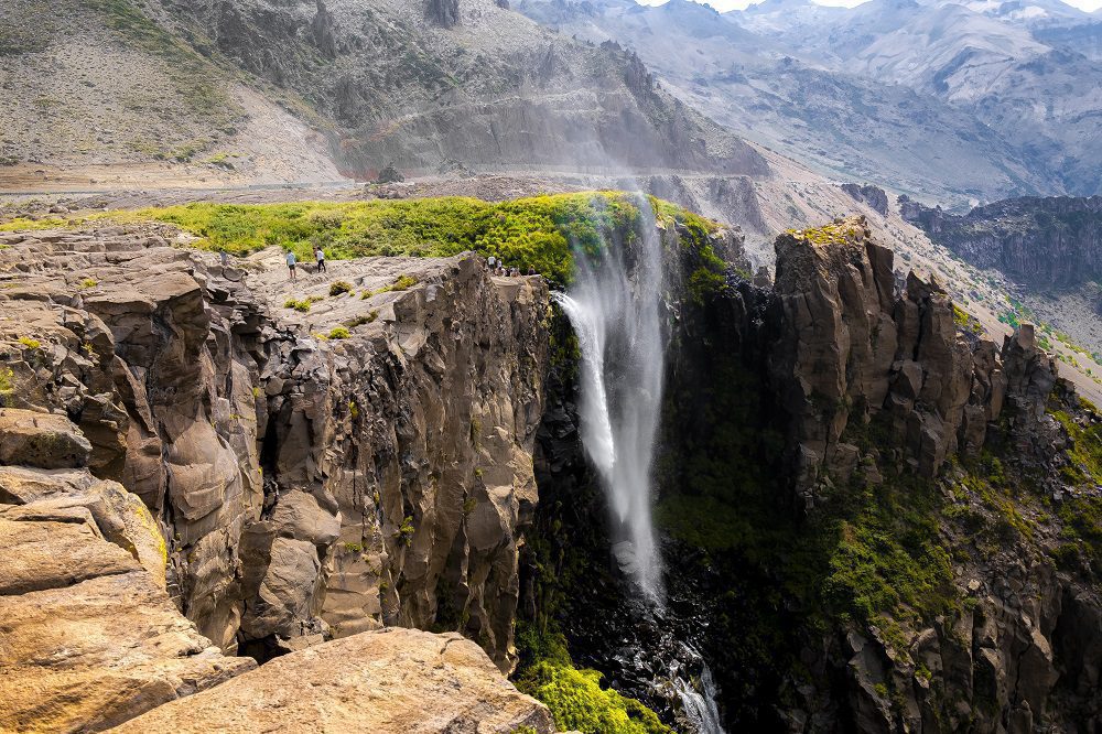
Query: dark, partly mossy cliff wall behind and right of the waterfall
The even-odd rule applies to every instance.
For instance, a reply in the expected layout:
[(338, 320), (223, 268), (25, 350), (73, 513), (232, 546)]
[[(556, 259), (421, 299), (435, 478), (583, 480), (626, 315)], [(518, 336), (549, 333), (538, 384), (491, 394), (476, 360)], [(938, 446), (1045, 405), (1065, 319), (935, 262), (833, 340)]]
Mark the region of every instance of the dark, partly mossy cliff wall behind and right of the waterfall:
[(699, 665), (661, 644), (673, 629), (733, 731), (1096, 727), (1096, 546), (1076, 528), (1099, 517), (1082, 456), (1102, 419), (1031, 328), (977, 339), (862, 219), (776, 246), (773, 288), (732, 271), (670, 296), (661, 622), (603, 563), (565, 369), (538, 442), (526, 614), (544, 604), (575, 660), (669, 722), (655, 671)]

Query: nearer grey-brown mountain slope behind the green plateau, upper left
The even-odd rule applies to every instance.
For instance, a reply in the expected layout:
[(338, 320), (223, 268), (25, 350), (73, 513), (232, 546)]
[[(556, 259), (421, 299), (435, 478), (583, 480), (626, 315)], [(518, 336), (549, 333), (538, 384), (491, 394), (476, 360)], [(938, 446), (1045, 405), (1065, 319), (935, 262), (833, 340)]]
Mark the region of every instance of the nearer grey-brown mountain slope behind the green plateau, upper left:
[[(634, 54), (493, 0), (65, 4), (4, 3), (9, 168), (214, 161), (296, 181), (388, 163), (764, 171), (743, 141), (658, 90)], [(306, 164), (304, 148), (332, 163)]]

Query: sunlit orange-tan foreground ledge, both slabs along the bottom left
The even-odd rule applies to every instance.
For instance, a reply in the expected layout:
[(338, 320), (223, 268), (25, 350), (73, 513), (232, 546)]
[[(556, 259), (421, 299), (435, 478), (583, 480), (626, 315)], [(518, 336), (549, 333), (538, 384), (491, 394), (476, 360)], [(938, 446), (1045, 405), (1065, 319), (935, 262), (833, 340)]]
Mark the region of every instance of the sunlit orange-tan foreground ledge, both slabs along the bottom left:
[(153, 516), (88, 472), (74, 424), (0, 408), (0, 445), (21, 464), (0, 466), (3, 731), (554, 731), (455, 633), (365, 633), (262, 670), (224, 656), (165, 594)]

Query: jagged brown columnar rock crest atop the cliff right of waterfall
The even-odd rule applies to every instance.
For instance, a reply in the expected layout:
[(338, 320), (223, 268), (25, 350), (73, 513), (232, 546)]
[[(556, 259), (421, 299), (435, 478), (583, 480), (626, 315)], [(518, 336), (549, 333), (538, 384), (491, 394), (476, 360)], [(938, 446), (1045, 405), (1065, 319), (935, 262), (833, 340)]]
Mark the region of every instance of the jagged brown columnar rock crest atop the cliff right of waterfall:
[(863, 217), (781, 235), (776, 249), (784, 334), (771, 361), (808, 503), (850, 476), (862, 458), (854, 441), (869, 427), (888, 431), (899, 461), (933, 476), (958, 451), (980, 450), (1004, 396), (1044, 412), (1056, 366), (1031, 327), (1001, 353), (970, 343), (936, 282), (911, 273), (897, 288), (893, 253)]

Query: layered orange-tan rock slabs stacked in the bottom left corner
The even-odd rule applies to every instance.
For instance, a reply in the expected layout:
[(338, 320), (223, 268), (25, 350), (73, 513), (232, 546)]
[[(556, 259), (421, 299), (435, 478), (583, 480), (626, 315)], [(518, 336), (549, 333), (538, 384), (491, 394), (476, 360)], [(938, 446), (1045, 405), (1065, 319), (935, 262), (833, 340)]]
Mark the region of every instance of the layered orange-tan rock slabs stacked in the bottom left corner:
[[(64, 415), (20, 427), (82, 445)], [(3, 466), (0, 501), (0, 731), (99, 731), (255, 667), (172, 605), (156, 523), (118, 484)]]

